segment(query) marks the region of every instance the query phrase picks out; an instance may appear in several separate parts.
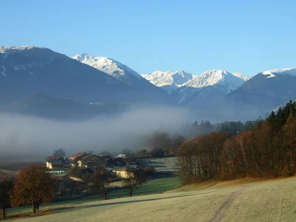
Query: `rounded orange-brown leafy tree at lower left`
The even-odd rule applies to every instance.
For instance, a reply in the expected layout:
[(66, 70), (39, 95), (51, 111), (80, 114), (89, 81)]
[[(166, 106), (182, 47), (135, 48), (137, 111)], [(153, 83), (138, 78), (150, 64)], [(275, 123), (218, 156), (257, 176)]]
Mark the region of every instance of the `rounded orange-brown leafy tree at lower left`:
[(33, 164), (19, 172), (11, 195), (11, 206), (32, 205), (32, 213), (40, 203), (49, 203), (55, 197), (55, 180), (46, 173), (43, 164)]

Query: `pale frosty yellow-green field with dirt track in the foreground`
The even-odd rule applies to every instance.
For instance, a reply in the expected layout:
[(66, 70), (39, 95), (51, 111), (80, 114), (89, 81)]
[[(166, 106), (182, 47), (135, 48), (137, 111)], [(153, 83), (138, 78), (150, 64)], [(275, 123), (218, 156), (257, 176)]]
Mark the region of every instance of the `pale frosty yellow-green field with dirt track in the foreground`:
[[(151, 182), (152, 183), (152, 182)], [(43, 208), (44, 209), (44, 208)], [(47, 208), (16, 221), (296, 221), (296, 177), (189, 185), (160, 194)]]

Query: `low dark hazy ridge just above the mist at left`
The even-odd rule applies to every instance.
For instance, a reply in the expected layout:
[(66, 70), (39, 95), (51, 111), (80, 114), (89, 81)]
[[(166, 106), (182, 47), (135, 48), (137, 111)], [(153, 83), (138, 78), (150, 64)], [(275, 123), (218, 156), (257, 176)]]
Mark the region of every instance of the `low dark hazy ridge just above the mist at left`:
[(63, 120), (88, 119), (98, 114), (120, 113), (125, 109), (122, 104), (85, 104), (70, 99), (55, 98), (36, 92), (13, 103), (1, 106), (0, 111), (27, 114)]

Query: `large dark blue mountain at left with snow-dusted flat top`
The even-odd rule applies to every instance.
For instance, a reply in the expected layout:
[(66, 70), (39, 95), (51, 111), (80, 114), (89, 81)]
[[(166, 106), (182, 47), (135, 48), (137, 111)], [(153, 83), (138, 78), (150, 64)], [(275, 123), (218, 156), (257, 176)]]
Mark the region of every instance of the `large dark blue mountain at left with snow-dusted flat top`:
[(109, 74), (48, 48), (0, 47), (2, 104), (35, 92), (85, 103), (162, 103), (167, 100), (162, 90), (156, 88), (155, 91), (148, 93), (147, 90), (125, 84)]

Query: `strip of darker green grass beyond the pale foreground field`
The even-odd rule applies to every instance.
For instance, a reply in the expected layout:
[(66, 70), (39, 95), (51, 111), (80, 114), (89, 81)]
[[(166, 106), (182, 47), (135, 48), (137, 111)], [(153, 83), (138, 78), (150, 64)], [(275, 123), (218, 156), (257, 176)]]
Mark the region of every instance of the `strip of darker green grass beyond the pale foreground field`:
[[(171, 189), (178, 188), (180, 186), (181, 186), (181, 181), (179, 177), (176, 175), (171, 175), (164, 178), (150, 180), (145, 184), (139, 186), (138, 188), (135, 188), (133, 196), (162, 193)], [(107, 194), (108, 199), (116, 199), (120, 197), (128, 197), (126, 189), (121, 188), (118, 190), (113, 190)], [(50, 204), (44, 204), (40, 206), (40, 210), (48, 207), (58, 206), (58, 205), (78, 204), (78, 203), (98, 201), (101, 199), (102, 199), (102, 195), (79, 197), (79, 198), (74, 198), (70, 200), (57, 201)], [(23, 212), (30, 211), (31, 209), (32, 209), (31, 206), (10, 208), (10, 209), (7, 209), (7, 215), (23, 213)]]

